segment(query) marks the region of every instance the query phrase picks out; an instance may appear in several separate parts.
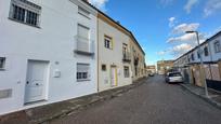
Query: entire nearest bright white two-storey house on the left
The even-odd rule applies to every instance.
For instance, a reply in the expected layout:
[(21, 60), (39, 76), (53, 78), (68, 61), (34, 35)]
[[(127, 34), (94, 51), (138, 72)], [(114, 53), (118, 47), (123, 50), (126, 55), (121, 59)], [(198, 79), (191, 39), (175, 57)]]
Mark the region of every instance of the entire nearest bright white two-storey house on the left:
[(96, 10), (0, 0), (0, 114), (98, 92)]

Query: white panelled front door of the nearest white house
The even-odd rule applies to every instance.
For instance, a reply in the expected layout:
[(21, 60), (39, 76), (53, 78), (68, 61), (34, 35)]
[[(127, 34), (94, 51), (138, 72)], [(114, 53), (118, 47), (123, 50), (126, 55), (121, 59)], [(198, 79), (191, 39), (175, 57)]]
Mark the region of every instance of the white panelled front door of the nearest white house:
[(28, 60), (25, 104), (46, 99), (46, 86), (49, 75), (49, 63)]

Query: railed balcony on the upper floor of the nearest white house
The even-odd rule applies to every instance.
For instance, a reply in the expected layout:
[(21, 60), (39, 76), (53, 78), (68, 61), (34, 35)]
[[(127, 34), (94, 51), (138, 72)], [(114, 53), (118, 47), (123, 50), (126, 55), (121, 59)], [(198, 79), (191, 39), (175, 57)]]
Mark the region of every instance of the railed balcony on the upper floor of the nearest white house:
[(84, 56), (93, 56), (95, 53), (94, 41), (76, 36), (75, 53)]

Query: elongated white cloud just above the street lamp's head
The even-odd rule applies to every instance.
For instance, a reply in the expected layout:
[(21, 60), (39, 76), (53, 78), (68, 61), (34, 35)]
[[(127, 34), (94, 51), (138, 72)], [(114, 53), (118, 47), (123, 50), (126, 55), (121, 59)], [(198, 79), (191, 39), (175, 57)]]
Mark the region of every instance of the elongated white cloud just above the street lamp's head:
[(199, 27), (198, 23), (195, 24), (181, 24), (173, 28), (172, 33), (173, 35), (181, 35), (185, 33), (185, 31), (194, 31), (197, 30)]

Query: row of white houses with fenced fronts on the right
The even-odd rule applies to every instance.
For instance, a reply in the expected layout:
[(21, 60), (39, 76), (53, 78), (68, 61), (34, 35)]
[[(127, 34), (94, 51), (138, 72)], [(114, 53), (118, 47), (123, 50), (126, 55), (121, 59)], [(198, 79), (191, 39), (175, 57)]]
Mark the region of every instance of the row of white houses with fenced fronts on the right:
[[(221, 31), (207, 39), (174, 61), (176, 67), (186, 73), (186, 82), (221, 91)], [(200, 55), (203, 65), (200, 66)], [(185, 58), (185, 59), (183, 59)], [(185, 70), (185, 71), (184, 71)]]

